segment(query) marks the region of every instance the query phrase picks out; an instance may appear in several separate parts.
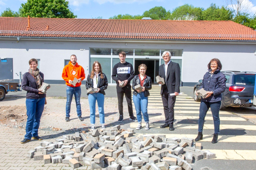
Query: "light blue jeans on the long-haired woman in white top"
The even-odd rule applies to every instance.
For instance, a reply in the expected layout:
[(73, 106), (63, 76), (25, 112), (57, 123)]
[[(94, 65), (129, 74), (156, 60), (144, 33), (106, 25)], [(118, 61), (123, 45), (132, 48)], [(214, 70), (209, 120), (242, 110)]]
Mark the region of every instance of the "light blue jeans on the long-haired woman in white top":
[(105, 123), (105, 114), (104, 114), (104, 94), (102, 93), (92, 93), (88, 94), (88, 100), (90, 105), (90, 121), (91, 124), (95, 124), (95, 106), (96, 100), (99, 108), (100, 123)]

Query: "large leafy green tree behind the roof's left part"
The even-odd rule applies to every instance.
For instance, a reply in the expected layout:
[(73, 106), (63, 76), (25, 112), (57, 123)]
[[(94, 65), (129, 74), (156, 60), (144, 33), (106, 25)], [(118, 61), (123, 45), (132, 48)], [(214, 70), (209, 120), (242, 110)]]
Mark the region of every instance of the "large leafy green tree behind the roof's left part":
[(76, 18), (69, 9), (69, 2), (66, 0), (27, 0), (21, 3), (19, 9), (21, 17), (41, 18)]

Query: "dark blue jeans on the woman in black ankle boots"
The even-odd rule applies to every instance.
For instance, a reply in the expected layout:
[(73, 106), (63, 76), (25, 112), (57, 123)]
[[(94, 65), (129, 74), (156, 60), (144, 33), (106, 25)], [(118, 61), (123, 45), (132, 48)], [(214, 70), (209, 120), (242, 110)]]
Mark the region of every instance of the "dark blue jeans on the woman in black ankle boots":
[(204, 127), (204, 118), (206, 116), (207, 111), (211, 108), (211, 114), (213, 117), (214, 124), (214, 133), (220, 133), (220, 111), (221, 101), (217, 102), (205, 102), (201, 101), (200, 109), (199, 109), (199, 119), (198, 119), (198, 132), (203, 132)]

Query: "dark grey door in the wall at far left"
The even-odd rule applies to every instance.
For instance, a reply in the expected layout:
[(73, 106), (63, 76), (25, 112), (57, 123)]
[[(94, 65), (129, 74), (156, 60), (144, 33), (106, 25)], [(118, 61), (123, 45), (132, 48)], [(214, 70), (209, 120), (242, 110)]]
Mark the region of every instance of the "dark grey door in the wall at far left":
[(1, 58), (0, 80), (13, 79), (13, 58)]

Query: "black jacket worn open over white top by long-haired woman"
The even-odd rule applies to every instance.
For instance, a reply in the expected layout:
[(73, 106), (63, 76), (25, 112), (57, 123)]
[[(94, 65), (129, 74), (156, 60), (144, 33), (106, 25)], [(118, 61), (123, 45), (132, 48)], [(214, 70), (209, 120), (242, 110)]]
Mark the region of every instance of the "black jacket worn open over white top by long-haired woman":
[[(107, 89), (107, 86), (108, 86), (108, 82), (107, 82), (107, 76), (103, 74), (103, 79), (101, 78), (101, 76), (99, 75), (98, 76), (98, 84), (97, 84), (97, 88), (100, 88), (101, 90), (98, 92), (98, 93), (102, 93), (102, 94), (106, 94), (104, 90)], [(91, 73), (88, 74), (87, 76), (87, 81), (86, 81), (86, 89), (88, 88), (93, 88), (93, 79), (90, 78), (91, 76)], [(87, 93), (88, 95), (89, 93)]]

